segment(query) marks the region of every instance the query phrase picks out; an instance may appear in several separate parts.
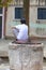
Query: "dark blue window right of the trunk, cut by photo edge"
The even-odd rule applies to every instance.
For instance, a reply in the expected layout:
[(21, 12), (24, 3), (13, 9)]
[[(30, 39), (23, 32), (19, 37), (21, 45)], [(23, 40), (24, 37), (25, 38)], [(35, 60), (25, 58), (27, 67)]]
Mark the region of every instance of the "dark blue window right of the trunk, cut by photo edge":
[(46, 19), (46, 8), (37, 9), (37, 19)]

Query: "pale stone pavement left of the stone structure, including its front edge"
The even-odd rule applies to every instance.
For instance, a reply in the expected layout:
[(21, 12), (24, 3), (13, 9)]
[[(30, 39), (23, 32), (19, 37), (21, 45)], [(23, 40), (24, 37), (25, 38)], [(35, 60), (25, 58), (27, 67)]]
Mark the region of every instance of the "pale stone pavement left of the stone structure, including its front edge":
[(7, 56), (9, 43), (13, 40), (0, 39), (0, 56)]

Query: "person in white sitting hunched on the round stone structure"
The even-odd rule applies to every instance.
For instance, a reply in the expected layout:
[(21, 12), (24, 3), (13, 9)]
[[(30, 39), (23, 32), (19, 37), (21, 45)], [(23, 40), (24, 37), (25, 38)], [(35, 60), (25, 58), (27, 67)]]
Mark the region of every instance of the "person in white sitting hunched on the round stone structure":
[(16, 37), (16, 43), (27, 43), (28, 42), (28, 26), (26, 25), (26, 19), (20, 19), (21, 25), (12, 27), (14, 37)]

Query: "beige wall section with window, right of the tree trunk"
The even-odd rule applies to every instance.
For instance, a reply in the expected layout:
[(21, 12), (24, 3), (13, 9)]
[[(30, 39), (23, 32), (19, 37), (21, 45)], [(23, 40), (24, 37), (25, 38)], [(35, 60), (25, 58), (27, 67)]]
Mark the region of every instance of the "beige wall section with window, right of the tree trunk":
[(30, 36), (46, 38), (46, 0), (30, 0)]

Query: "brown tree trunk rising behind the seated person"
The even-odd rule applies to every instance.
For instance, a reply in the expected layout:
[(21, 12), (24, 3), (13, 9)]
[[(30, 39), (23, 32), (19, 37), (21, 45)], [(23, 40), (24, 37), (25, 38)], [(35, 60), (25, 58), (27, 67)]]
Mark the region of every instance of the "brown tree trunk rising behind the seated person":
[(24, 0), (24, 16), (27, 20), (28, 26), (29, 26), (29, 1), (30, 0)]

